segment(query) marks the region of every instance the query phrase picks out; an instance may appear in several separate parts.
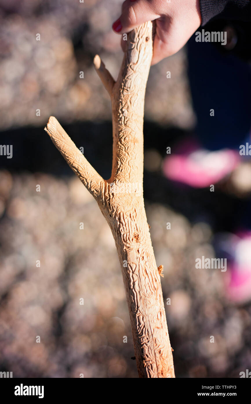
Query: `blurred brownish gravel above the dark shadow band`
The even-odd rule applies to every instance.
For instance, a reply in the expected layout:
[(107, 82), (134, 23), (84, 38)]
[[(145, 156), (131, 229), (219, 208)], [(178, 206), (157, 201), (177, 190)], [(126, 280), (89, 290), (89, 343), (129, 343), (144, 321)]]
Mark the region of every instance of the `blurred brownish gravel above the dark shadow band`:
[[(120, 8), (118, 0), (2, 1), (2, 128), (45, 125), (50, 115), (65, 122), (110, 120), (109, 95), (92, 61), (99, 53), (114, 78), (118, 75), (120, 36), (111, 26)], [(150, 120), (182, 128), (193, 124), (184, 59), (180, 51), (151, 69), (145, 100)]]

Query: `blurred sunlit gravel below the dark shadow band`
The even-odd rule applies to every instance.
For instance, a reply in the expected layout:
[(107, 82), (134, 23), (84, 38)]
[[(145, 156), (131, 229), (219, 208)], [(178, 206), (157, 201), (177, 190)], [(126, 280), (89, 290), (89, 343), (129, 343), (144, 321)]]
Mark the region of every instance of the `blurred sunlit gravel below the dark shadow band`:
[[(137, 377), (114, 240), (95, 200), (75, 177), (2, 171), (0, 190), (2, 369), (15, 377)], [(224, 297), (225, 273), (195, 269), (194, 257), (214, 257), (212, 229), (162, 204), (146, 210), (164, 302), (171, 299), (176, 376), (239, 377), (251, 362), (251, 307)]]

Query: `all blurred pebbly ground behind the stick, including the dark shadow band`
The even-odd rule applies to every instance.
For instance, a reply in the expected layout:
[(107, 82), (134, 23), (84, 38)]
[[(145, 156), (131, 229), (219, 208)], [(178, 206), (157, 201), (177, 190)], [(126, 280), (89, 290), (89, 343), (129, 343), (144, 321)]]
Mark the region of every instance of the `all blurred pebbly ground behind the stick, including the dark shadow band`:
[[(116, 77), (122, 52), (111, 24), (120, 4), (1, 2), (1, 143), (13, 145), (13, 158), (0, 159), (1, 370), (13, 377), (137, 377), (110, 229), (43, 130), (56, 116), (95, 169), (110, 177), (110, 100), (92, 60), (99, 53)], [(228, 301), (228, 272), (198, 273), (194, 257), (215, 256), (214, 235), (238, 226), (234, 213), (245, 207), (245, 195), (221, 183), (213, 198), (208, 190), (174, 185), (161, 170), (166, 146), (194, 124), (181, 50), (152, 67), (147, 83), (147, 218), (157, 264), (164, 265), (164, 302), (172, 302), (165, 307), (176, 377), (239, 377), (251, 368), (250, 303)]]

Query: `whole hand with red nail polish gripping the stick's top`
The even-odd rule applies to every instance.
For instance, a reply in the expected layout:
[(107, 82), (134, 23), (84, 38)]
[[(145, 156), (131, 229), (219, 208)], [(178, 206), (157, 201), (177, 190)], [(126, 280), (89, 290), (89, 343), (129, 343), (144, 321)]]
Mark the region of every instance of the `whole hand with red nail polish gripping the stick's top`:
[[(122, 4), (122, 14), (112, 28), (117, 34), (124, 34), (153, 20), (156, 20), (156, 34), (151, 65), (178, 52), (199, 28), (199, 0), (126, 0)], [(127, 46), (123, 37), (121, 46), (125, 51)]]

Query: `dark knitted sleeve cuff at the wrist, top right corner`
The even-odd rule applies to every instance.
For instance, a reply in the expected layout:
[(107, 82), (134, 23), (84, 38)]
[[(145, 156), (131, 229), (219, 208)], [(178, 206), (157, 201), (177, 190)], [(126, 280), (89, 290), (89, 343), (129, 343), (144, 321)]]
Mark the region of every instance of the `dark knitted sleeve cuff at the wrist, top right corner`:
[(239, 21), (251, 21), (250, 0), (200, 0), (202, 17), (205, 25), (214, 17)]

